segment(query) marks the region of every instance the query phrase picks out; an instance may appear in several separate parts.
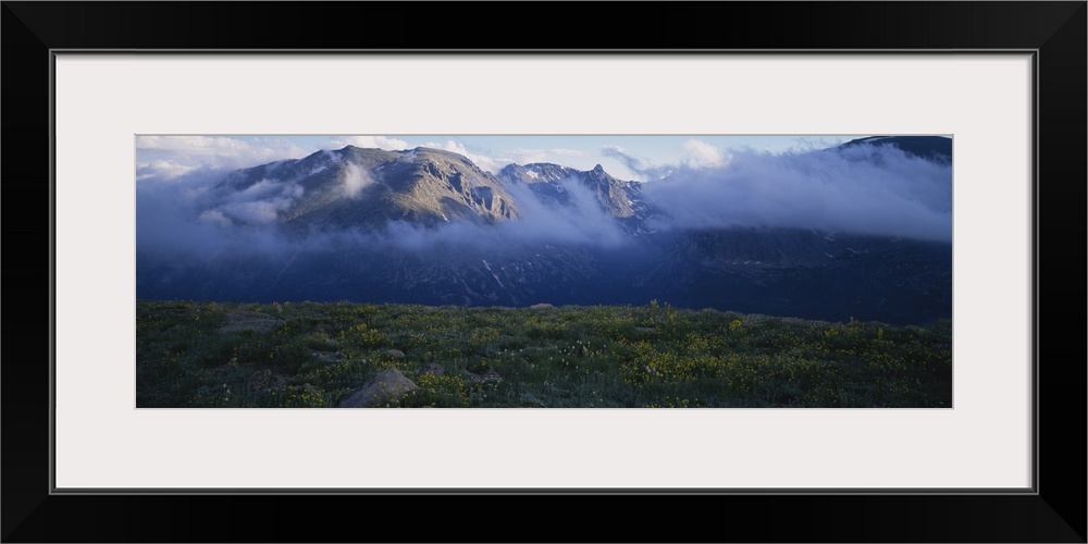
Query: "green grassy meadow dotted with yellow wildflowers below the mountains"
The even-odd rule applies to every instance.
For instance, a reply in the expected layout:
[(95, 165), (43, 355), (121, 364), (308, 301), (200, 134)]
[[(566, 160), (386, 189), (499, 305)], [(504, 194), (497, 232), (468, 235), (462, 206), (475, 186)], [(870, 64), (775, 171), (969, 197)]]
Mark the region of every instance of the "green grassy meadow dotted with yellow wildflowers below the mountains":
[(388, 368), (419, 386), (401, 407), (950, 407), (952, 330), (656, 301), (136, 305), (138, 407), (335, 407)]

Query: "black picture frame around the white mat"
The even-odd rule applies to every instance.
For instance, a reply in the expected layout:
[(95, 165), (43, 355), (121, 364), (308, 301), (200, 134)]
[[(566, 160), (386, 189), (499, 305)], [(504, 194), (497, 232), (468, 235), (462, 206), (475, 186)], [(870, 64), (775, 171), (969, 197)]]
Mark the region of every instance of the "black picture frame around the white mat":
[[(1086, 542), (1086, 351), (1079, 331), (1086, 316), (1088, 4), (631, 2), (602, 8), (621, 10), (622, 22), (590, 15), (582, 3), (3, 2), (7, 160), (0, 175), (11, 251), (2, 274), (9, 287), (40, 297), (14, 307), (12, 300), (18, 299), (9, 298), (4, 320), (3, 541), (327, 542), (343, 540), (348, 531), (349, 540), (362, 541)], [(482, 24), (483, 13), (518, 24)], [(541, 32), (526, 32), (526, 21)], [(548, 32), (559, 28), (562, 33)], [(1037, 493), (52, 494), (51, 51), (450, 47), (1035, 51)], [(358, 517), (334, 514), (344, 509)], [(386, 519), (406, 512), (419, 522), (400, 526)], [(523, 529), (511, 533), (499, 527)]]

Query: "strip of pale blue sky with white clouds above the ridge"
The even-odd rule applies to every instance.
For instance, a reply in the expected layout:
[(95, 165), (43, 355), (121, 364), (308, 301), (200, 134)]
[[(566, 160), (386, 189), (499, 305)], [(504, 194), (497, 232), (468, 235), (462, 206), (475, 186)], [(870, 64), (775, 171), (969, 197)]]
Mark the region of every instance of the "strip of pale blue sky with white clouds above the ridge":
[(623, 180), (651, 181), (655, 169), (722, 165), (737, 151), (782, 153), (864, 136), (137, 136), (136, 174), (138, 181), (171, 180), (198, 170), (234, 170), (354, 145), (446, 149), (491, 172), (511, 162), (555, 162), (579, 170), (601, 164)]

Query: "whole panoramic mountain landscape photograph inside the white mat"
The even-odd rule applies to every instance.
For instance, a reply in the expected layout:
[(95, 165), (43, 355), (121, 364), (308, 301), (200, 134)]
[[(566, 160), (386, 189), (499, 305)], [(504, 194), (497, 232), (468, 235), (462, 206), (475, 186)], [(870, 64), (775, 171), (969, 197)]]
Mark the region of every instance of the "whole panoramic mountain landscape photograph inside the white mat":
[(138, 135), (137, 408), (951, 408), (944, 135)]

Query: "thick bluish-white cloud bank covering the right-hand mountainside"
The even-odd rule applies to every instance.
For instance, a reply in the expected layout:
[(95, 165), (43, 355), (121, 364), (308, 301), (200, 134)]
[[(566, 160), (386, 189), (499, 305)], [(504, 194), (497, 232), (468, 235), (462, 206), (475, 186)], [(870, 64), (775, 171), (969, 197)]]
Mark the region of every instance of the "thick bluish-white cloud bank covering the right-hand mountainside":
[(893, 147), (735, 152), (643, 185), (658, 228), (798, 227), (952, 239), (952, 168)]

